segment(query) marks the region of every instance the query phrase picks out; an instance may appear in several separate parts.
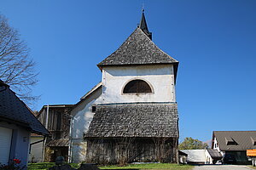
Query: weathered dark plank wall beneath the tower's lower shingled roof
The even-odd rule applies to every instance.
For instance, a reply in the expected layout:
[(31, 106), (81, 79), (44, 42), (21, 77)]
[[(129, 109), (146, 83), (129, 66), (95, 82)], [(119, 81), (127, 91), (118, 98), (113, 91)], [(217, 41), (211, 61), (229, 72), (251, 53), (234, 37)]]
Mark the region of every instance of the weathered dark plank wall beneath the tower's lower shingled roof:
[(99, 164), (177, 162), (177, 138), (87, 139), (86, 161)]

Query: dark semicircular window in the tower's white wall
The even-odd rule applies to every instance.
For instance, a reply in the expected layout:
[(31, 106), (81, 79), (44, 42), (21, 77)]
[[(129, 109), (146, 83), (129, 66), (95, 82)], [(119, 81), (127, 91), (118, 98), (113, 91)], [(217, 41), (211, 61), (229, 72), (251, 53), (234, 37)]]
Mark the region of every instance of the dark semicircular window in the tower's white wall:
[(148, 85), (148, 82), (143, 80), (132, 80), (125, 85), (123, 94), (145, 94), (152, 93), (152, 89)]

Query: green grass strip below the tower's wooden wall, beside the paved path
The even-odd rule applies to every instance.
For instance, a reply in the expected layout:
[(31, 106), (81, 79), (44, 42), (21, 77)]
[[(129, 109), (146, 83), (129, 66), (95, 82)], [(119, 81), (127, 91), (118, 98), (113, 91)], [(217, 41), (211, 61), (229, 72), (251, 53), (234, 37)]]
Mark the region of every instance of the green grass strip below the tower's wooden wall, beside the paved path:
[(106, 166), (100, 167), (101, 169), (172, 169), (172, 170), (189, 170), (193, 166), (190, 165), (177, 165), (173, 163), (145, 163), (145, 164), (129, 164), (125, 167)]

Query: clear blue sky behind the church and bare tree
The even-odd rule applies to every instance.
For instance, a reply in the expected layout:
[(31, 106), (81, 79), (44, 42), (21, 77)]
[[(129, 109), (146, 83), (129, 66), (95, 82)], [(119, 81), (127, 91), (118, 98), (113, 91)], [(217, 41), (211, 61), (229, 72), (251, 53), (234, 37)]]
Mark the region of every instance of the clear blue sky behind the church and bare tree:
[(101, 81), (97, 68), (141, 18), (153, 41), (180, 62), (180, 139), (213, 130), (256, 130), (256, 1), (0, 0), (40, 72), (35, 105), (75, 104)]

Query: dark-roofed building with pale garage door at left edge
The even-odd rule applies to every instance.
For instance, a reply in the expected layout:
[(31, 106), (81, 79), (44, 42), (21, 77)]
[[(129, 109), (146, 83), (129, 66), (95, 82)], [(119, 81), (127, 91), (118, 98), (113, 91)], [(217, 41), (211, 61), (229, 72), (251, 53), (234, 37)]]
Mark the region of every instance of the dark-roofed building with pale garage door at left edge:
[(0, 80), (0, 163), (20, 159), (20, 166), (26, 166), (31, 133), (49, 134), (9, 85)]

